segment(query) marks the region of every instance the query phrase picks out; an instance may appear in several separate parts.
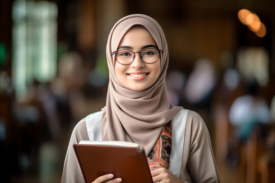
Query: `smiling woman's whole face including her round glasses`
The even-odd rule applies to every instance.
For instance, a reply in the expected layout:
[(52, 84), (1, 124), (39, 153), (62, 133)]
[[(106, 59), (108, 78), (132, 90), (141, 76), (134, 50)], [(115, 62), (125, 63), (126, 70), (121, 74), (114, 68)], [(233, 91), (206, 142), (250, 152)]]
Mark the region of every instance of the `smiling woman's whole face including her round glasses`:
[[(114, 58), (116, 76), (123, 86), (141, 91), (154, 84), (160, 74), (160, 57), (153, 48), (157, 48), (156, 42), (145, 29), (131, 28), (125, 34)], [(129, 64), (122, 64), (127, 60)]]

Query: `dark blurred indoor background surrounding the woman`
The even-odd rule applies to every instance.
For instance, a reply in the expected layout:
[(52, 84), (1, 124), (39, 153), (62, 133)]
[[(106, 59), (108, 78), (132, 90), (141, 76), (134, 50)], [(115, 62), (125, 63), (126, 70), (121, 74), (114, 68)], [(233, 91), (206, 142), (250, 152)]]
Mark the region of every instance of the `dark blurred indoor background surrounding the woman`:
[(275, 182), (272, 0), (0, 0), (1, 182), (60, 182), (76, 123), (105, 105), (121, 17), (156, 19), (172, 104), (209, 129), (222, 182)]

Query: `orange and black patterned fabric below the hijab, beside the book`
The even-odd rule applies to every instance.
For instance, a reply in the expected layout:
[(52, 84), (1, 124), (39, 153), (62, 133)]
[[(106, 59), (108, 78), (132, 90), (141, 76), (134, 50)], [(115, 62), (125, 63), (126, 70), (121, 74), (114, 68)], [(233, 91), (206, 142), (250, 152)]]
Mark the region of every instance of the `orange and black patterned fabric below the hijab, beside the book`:
[(172, 123), (171, 121), (162, 127), (162, 131), (156, 144), (147, 156), (150, 170), (165, 167), (169, 169), (172, 148)]

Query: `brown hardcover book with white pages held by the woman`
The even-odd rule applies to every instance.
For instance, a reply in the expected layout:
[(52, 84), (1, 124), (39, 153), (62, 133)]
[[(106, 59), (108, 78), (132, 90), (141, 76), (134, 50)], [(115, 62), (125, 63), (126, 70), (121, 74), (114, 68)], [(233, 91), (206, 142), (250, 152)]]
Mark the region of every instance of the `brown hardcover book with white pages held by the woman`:
[(122, 182), (153, 183), (143, 147), (124, 141), (80, 141), (73, 144), (86, 183), (113, 173)]

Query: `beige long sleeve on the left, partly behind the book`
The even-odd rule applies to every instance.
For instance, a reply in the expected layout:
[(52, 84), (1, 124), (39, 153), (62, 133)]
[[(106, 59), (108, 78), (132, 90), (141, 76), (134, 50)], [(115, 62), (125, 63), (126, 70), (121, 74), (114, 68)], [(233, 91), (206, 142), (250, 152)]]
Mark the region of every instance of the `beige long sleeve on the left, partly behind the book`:
[(72, 146), (80, 140), (89, 140), (85, 118), (78, 122), (72, 132), (63, 167), (62, 183), (85, 182)]

